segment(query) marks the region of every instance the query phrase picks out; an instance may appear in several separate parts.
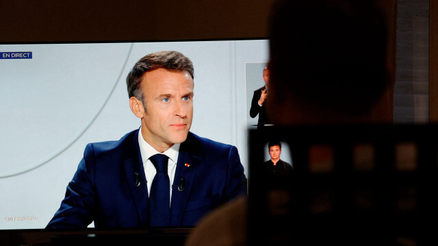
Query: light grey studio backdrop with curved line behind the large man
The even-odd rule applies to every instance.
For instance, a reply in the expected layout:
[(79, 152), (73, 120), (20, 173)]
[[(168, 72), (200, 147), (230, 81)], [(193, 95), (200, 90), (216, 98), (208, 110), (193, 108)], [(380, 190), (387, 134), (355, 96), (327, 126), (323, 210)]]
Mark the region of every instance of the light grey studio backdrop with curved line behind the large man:
[(140, 127), (125, 78), (159, 50), (193, 61), (191, 131), (235, 145), (247, 174), (246, 90), (255, 88), (246, 88), (246, 64), (268, 61), (267, 40), (0, 45), (0, 52), (33, 55), (0, 60), (0, 229), (45, 227), (86, 144)]

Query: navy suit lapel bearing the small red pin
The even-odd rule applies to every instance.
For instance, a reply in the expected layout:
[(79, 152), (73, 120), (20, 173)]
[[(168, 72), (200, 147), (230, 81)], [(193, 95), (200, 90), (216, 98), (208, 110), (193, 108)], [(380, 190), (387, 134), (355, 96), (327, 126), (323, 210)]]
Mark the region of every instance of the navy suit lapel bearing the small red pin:
[[(181, 147), (179, 147), (177, 170), (175, 171), (175, 179), (172, 185), (172, 202), (170, 205), (170, 225), (173, 226), (181, 224), (185, 205), (192, 190), (193, 179), (199, 164), (199, 158), (194, 153), (197, 149), (195, 145), (189, 132), (187, 140), (181, 143)], [(181, 179), (185, 180), (185, 186), (180, 191), (177, 186), (179, 186)]]

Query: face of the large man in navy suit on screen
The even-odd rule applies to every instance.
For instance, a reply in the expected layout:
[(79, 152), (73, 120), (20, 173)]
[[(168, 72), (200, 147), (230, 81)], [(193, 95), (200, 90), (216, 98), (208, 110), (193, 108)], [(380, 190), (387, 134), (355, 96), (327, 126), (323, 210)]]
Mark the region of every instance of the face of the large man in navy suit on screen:
[(144, 140), (158, 151), (183, 143), (192, 125), (193, 79), (187, 72), (156, 69), (143, 75)]

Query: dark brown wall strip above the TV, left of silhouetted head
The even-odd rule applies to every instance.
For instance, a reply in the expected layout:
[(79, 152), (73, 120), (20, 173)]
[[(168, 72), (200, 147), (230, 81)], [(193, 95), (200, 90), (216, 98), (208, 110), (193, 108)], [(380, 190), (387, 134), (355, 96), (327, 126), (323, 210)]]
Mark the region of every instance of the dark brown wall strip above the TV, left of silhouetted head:
[(0, 42), (263, 38), (272, 0), (0, 2)]

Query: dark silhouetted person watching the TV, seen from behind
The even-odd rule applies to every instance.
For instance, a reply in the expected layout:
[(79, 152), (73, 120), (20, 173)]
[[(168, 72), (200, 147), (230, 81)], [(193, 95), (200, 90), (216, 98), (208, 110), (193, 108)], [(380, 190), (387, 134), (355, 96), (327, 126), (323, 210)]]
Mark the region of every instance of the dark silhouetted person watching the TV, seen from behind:
[[(387, 26), (377, 1), (280, 0), (270, 12), (269, 97), (274, 125), (391, 123)], [(249, 177), (250, 179), (250, 177)], [(186, 241), (246, 245), (247, 199), (205, 217)], [(293, 234), (293, 232), (290, 232)]]

